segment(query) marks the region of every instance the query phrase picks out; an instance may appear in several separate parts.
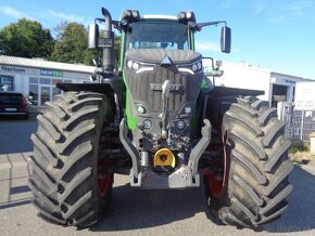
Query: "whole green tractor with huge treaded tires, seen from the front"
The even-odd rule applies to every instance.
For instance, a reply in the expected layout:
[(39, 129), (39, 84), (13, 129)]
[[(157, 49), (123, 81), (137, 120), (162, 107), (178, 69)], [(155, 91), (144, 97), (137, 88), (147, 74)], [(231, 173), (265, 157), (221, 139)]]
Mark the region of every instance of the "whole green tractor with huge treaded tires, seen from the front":
[[(230, 51), (225, 22), (140, 15), (89, 26), (98, 52), (91, 83), (63, 90), (37, 117), (32, 135), (29, 187), (39, 214), (51, 222), (88, 226), (109, 207), (114, 173), (131, 187), (171, 189), (204, 183), (207, 211), (217, 223), (255, 227), (278, 219), (292, 191), (290, 141), (262, 91), (215, 87), (194, 51), (194, 34), (223, 24), (222, 51)], [(121, 31), (115, 68), (114, 34)]]

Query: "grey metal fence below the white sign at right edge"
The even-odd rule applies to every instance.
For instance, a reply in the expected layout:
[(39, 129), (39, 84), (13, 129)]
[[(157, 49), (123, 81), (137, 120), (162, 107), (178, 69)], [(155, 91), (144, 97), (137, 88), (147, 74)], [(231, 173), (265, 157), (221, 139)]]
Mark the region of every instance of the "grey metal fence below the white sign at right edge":
[(315, 132), (315, 110), (294, 110), (291, 103), (278, 103), (278, 117), (286, 122), (286, 136), (310, 142)]

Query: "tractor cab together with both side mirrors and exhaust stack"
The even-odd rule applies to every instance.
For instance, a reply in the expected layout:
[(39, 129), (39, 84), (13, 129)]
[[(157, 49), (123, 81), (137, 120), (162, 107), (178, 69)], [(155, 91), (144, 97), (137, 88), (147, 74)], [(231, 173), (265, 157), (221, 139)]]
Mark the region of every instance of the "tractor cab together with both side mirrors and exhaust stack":
[[(140, 15), (139, 11), (125, 10), (119, 21), (112, 21), (111, 15), (102, 9), (104, 18), (96, 18), (96, 23), (89, 25), (88, 48), (103, 49), (104, 68), (110, 70), (113, 63), (114, 34), (112, 26), (122, 34), (119, 70), (123, 69), (125, 53), (129, 49), (161, 49), (161, 50), (192, 50), (194, 51), (194, 34), (205, 26), (224, 24), (220, 35), (222, 52), (230, 52), (230, 28), (226, 22), (197, 23), (194, 13), (191, 11), (179, 12), (172, 15)], [(99, 24), (105, 23), (102, 37)], [(104, 55), (106, 61), (104, 60)], [(110, 56), (109, 56), (110, 55)]]

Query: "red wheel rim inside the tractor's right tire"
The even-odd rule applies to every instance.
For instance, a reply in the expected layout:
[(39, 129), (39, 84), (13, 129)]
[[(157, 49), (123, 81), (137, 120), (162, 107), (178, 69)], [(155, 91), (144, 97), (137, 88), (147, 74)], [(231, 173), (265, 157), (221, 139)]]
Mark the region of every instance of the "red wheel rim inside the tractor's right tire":
[[(209, 187), (210, 187), (210, 189), (215, 198), (218, 198), (222, 195), (222, 193), (224, 191), (225, 182), (226, 182), (226, 148), (225, 148), (225, 144), (226, 144), (226, 139), (225, 139), (225, 136), (222, 136), (223, 165), (220, 165), (220, 166), (223, 167), (223, 173), (222, 172), (214, 172), (214, 173), (206, 174)], [(218, 163), (215, 163), (215, 162), (211, 163), (211, 166), (213, 168), (217, 167), (217, 165)], [(223, 178), (218, 179), (217, 178), (218, 174), (223, 174)]]

